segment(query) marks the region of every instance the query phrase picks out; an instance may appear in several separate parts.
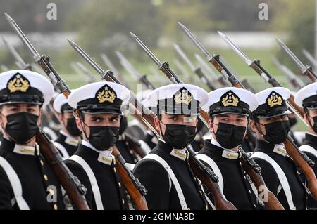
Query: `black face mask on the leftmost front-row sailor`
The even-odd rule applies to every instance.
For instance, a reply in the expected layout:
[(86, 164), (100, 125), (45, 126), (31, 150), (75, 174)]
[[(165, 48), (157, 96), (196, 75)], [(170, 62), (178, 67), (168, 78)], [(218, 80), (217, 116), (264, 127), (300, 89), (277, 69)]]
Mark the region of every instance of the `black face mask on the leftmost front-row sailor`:
[(27, 112), (10, 114), (6, 116), (8, 123), (4, 130), (15, 143), (25, 145), (39, 131), (38, 119), (39, 116)]

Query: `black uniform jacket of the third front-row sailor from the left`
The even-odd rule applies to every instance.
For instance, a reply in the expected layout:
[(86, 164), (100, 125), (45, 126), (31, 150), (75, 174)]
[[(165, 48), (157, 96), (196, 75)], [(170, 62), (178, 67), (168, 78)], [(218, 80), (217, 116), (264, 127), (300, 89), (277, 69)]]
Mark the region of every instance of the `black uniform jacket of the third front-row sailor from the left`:
[[(159, 140), (158, 145), (149, 153), (159, 155), (168, 163), (180, 183), (189, 209), (206, 209), (204, 194), (189, 167), (187, 158), (182, 160), (171, 155), (172, 150), (173, 147)], [(148, 190), (145, 197), (149, 209), (182, 209), (173, 183), (171, 183), (172, 186), (169, 190), (168, 172), (159, 162), (153, 159), (142, 159), (136, 164), (134, 175)]]

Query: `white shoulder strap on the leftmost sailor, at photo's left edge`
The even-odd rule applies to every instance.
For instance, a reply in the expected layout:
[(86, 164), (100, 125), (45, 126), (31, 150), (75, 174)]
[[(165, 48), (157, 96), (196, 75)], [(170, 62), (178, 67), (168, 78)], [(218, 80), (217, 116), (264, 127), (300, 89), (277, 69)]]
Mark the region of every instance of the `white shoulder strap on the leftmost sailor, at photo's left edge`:
[(25, 199), (22, 196), (22, 185), (13, 167), (8, 163), (8, 161), (6, 161), (6, 159), (4, 159), (4, 157), (0, 157), (0, 166), (2, 166), (6, 172), (6, 176), (8, 176), (8, 180), (10, 181), (13, 190), (15, 200), (13, 198), (11, 202), (14, 203), (15, 201), (21, 210), (30, 210), (30, 207), (27, 205), (27, 202), (25, 202)]

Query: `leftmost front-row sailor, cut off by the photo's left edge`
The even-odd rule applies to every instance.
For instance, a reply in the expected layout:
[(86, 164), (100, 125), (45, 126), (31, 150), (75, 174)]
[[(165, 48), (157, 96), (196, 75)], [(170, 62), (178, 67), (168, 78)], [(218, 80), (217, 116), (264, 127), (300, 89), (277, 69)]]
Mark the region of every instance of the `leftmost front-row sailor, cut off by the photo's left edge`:
[(58, 178), (36, 143), (54, 88), (36, 72), (0, 74), (0, 209), (64, 209)]

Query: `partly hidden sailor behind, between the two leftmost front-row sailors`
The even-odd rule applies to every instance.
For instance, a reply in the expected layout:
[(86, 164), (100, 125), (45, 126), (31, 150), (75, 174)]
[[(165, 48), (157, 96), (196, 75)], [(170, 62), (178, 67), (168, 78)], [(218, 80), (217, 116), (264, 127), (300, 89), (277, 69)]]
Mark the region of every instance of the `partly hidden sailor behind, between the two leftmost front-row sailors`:
[(59, 121), (63, 124), (63, 129), (59, 131), (54, 145), (63, 158), (68, 159), (77, 150), (81, 132), (76, 125), (73, 107), (68, 105), (65, 95), (59, 94), (54, 100), (53, 107), (58, 113)]

